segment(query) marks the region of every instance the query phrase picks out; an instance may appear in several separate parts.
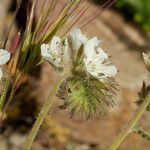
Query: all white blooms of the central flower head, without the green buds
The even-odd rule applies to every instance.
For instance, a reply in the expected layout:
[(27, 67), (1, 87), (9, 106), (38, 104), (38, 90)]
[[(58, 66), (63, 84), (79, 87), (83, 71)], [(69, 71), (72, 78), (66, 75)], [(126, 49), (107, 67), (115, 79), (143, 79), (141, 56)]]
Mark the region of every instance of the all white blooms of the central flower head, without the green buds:
[[(108, 55), (99, 47), (100, 41), (96, 37), (88, 39), (79, 28), (75, 28), (69, 34), (69, 40), (74, 59), (77, 59), (77, 53), (83, 45), (84, 69), (90, 75), (101, 80), (117, 74), (117, 68), (109, 63)], [(57, 68), (63, 67), (68, 57), (68, 39), (64, 40), (64, 44), (62, 41), (55, 36), (50, 44), (41, 45), (43, 58)]]

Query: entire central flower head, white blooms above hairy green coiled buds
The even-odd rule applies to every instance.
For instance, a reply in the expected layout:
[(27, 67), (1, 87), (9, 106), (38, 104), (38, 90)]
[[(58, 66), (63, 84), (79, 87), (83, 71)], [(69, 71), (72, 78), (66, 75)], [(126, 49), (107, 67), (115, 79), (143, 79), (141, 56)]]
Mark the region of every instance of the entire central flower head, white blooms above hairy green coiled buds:
[(41, 45), (43, 58), (57, 69), (65, 70), (68, 60), (72, 60), (71, 74), (58, 91), (66, 99), (60, 108), (69, 107), (72, 115), (82, 112), (89, 118), (114, 105), (113, 77), (117, 68), (110, 64), (107, 53), (99, 45), (96, 37), (88, 39), (79, 28), (73, 29), (65, 39), (54, 37), (50, 44)]

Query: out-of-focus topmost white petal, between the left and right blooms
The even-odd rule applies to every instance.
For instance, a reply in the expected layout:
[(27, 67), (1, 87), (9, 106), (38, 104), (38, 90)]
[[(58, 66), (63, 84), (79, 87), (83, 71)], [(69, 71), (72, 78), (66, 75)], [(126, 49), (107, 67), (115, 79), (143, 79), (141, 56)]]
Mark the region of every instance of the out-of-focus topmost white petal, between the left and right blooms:
[(75, 28), (70, 32), (70, 37), (73, 45), (74, 50), (79, 50), (80, 46), (82, 44), (85, 44), (87, 42), (87, 38), (84, 34), (82, 34), (81, 30), (79, 28)]

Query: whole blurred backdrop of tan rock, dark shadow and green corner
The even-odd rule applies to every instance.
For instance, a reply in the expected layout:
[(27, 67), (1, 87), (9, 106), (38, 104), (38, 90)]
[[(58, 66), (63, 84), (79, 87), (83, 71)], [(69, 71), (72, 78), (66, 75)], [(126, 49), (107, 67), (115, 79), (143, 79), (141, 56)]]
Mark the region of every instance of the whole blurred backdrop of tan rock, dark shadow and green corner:
[[(94, 13), (104, 2), (87, 1), (91, 6), (88, 13)], [(30, 3), (30, 0), (23, 0), (12, 37), (18, 29), (25, 28), (26, 3)], [(8, 31), (15, 7), (15, 0), (0, 0), (0, 41), (4, 40)], [(119, 84), (116, 107), (110, 109), (105, 117), (97, 116), (85, 121), (70, 118), (67, 111), (59, 110), (61, 100), (56, 99), (32, 150), (107, 150), (121, 127), (137, 109), (135, 102), (142, 82), (149, 83), (141, 52), (148, 53), (150, 50), (150, 0), (118, 0), (84, 30), (87, 35), (102, 40), (102, 48), (112, 56), (113, 63), (119, 69), (116, 77)], [(5, 116), (0, 134), (0, 150), (21, 150), (54, 83), (55, 71), (44, 63), (18, 90)], [(150, 112), (145, 112), (140, 122), (150, 132)], [(136, 134), (130, 134), (119, 148), (149, 149), (150, 142)]]

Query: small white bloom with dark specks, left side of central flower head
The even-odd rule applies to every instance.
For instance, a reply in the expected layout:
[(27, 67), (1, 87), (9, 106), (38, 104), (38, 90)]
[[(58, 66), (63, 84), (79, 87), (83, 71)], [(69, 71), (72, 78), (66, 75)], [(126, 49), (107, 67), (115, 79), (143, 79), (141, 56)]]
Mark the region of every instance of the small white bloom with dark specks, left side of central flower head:
[(67, 61), (67, 47), (67, 39), (63, 43), (60, 37), (54, 36), (50, 44), (41, 45), (41, 55), (49, 63), (60, 68)]

